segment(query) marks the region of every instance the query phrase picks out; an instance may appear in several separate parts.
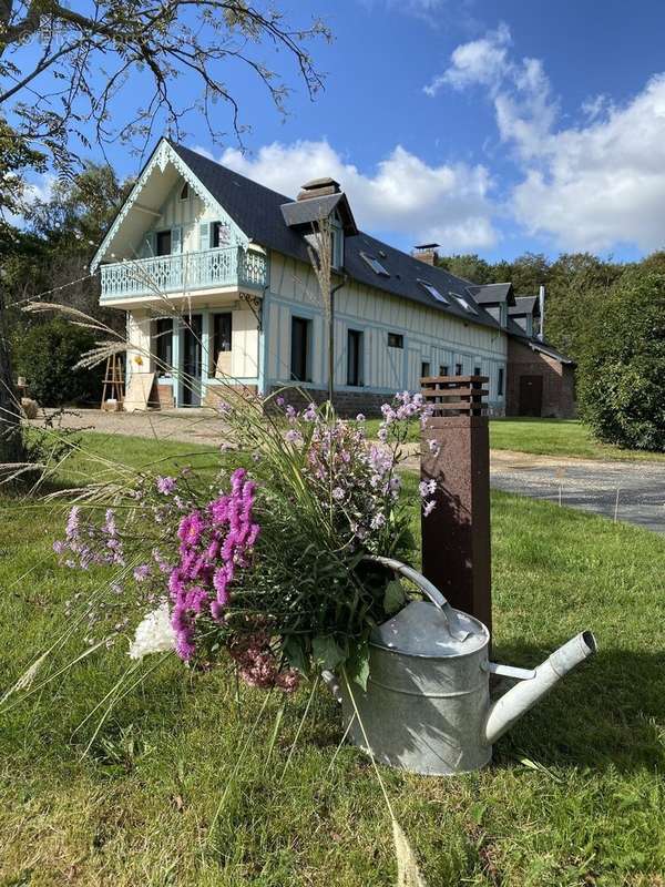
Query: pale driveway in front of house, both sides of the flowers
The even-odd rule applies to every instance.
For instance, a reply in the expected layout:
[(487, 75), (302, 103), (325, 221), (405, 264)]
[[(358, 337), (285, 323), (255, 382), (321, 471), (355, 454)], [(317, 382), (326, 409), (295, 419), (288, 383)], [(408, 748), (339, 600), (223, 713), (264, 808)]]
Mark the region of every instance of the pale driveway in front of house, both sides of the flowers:
[[(224, 424), (209, 410), (76, 412), (65, 417), (64, 424), (106, 434), (212, 446), (224, 439)], [(418, 468), (418, 447), (413, 445), (411, 450), (409, 467)], [(499, 490), (554, 502), (561, 495), (564, 506), (611, 519), (616, 513), (618, 520), (665, 533), (665, 462), (606, 462), (492, 450), (491, 483)]]

